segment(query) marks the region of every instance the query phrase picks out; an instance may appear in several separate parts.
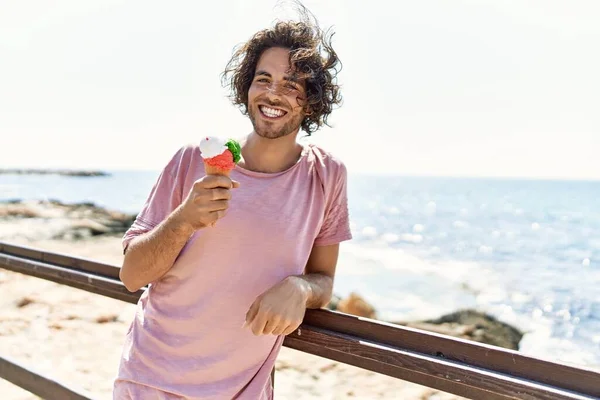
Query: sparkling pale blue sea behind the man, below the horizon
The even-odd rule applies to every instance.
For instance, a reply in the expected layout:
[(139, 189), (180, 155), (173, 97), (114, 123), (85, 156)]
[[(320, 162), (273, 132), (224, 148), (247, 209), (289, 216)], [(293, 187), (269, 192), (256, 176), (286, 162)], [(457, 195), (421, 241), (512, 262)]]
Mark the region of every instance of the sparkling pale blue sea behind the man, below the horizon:
[[(93, 202), (137, 213), (158, 171), (0, 175), (0, 201)], [(378, 318), (487, 312), (524, 354), (600, 369), (600, 181), (349, 175), (353, 239), (335, 292)]]

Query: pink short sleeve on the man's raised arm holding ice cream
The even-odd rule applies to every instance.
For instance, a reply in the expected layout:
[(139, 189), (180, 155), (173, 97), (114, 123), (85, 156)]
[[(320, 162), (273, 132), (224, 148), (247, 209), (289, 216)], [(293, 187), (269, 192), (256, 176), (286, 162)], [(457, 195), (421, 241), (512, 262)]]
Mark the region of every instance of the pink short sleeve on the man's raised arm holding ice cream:
[(133, 238), (151, 231), (182, 202), (182, 150), (177, 152), (158, 175), (146, 202), (122, 239), (123, 252)]

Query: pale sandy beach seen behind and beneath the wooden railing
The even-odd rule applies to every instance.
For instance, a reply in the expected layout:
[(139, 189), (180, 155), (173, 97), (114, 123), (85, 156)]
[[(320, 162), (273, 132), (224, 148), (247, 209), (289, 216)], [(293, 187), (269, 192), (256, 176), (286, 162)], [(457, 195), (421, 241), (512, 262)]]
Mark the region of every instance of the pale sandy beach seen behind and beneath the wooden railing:
[[(120, 236), (47, 239), (48, 220), (4, 219), (0, 240), (121, 262)], [(37, 232), (33, 234), (33, 232)], [(56, 236), (56, 235), (55, 235)], [(0, 354), (94, 399), (111, 399), (112, 380), (134, 305), (0, 270)], [(457, 396), (283, 348), (277, 399), (459, 399)], [(38, 397), (0, 380), (3, 400)]]

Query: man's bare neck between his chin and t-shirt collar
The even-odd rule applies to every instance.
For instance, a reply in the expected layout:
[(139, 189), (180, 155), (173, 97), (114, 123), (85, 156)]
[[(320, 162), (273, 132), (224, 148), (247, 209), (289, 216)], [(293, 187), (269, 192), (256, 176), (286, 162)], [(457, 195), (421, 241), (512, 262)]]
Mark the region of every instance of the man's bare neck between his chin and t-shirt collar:
[(242, 142), (240, 166), (255, 172), (276, 173), (292, 167), (302, 154), (296, 134), (265, 139), (252, 131)]

